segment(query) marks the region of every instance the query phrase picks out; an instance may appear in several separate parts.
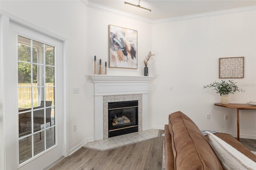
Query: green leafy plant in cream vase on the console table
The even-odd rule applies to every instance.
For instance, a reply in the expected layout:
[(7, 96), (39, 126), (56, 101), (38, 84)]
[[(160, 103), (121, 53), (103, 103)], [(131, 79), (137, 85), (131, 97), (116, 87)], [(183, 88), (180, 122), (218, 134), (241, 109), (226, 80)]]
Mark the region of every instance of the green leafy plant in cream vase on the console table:
[(229, 80), (228, 82), (221, 81), (221, 82), (216, 82), (214, 81), (213, 83), (210, 83), (210, 85), (204, 86), (204, 88), (211, 88), (214, 87), (214, 90), (216, 90), (216, 93), (219, 93), (221, 98), (220, 101), (223, 105), (228, 105), (228, 94), (232, 93), (234, 94), (236, 91), (244, 92), (245, 90), (243, 89), (238, 89), (236, 83), (233, 80)]

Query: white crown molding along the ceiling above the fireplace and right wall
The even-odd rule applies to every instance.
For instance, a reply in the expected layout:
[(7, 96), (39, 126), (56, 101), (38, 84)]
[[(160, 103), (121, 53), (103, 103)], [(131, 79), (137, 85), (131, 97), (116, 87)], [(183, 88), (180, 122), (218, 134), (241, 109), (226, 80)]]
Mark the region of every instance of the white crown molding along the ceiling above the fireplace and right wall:
[(109, 13), (116, 14), (119, 16), (124, 16), (127, 18), (135, 19), (135, 20), (140, 20), (140, 21), (146, 22), (148, 24), (162, 24), (162, 23), (166, 23), (166, 22), (177, 22), (177, 21), (192, 20), (192, 19), (197, 19), (197, 18), (205, 18), (205, 17), (221, 16), (221, 15), (228, 15), (228, 14), (236, 14), (236, 13), (241, 13), (241, 12), (256, 11), (256, 6), (246, 6), (246, 7), (233, 8), (233, 9), (228, 9), (228, 10), (205, 12), (205, 13), (200, 13), (200, 14), (192, 14), (192, 15), (179, 16), (179, 17), (164, 18), (164, 19), (159, 19), (159, 20), (150, 20), (148, 18), (140, 17), (140, 16), (137, 16), (134, 14), (130, 14), (128, 12), (123, 12), (121, 10), (116, 10), (114, 8), (109, 8), (107, 6), (96, 4), (96, 3), (90, 2), (88, 0), (81, 0), (81, 1), (89, 8), (94, 8), (97, 10), (109, 12)]

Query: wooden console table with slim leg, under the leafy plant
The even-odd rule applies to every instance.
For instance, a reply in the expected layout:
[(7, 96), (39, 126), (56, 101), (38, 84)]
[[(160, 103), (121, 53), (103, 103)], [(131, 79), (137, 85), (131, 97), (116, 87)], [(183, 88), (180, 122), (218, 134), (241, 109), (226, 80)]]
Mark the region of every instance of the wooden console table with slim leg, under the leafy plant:
[(256, 106), (241, 104), (241, 103), (229, 103), (228, 105), (222, 105), (221, 103), (214, 103), (215, 106), (234, 108), (236, 109), (236, 119), (237, 119), (237, 140), (239, 141), (239, 110), (240, 109), (256, 109)]

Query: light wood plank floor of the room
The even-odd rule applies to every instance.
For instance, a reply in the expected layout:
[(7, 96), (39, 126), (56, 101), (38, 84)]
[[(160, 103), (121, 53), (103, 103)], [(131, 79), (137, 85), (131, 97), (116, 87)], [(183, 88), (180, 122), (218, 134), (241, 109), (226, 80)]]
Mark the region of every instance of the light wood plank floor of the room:
[[(80, 148), (50, 170), (162, 170), (163, 133), (160, 130), (159, 138), (108, 151)], [(256, 140), (240, 138), (240, 142), (256, 151)]]

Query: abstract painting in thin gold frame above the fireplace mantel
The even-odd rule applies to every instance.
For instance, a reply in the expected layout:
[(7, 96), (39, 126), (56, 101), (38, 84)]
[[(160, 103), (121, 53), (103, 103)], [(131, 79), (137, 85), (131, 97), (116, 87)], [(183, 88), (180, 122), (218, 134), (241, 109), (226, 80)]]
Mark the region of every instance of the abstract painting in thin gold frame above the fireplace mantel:
[(109, 67), (137, 69), (137, 31), (109, 25)]

